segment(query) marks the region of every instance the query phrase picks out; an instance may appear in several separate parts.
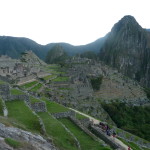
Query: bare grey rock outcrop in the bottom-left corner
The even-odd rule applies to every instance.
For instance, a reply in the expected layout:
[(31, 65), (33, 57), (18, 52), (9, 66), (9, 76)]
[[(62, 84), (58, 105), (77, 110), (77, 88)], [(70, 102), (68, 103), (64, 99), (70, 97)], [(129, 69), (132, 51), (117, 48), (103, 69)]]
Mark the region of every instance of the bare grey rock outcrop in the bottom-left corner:
[[(46, 141), (42, 136), (35, 135), (31, 132), (23, 131), (14, 127), (6, 127), (0, 123), (0, 149), (13, 150), (9, 145), (4, 142), (4, 138), (12, 138), (14, 140), (25, 142), (28, 145), (28, 150), (56, 150), (52, 142)], [(26, 150), (27, 146), (20, 148)]]

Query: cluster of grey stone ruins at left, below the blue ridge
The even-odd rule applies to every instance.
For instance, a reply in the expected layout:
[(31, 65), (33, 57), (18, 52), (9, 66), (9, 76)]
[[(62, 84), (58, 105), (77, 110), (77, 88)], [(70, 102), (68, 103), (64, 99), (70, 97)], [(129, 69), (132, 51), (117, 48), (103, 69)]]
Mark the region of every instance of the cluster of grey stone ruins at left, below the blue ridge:
[(32, 51), (25, 52), (18, 60), (2, 55), (0, 56), (0, 76), (21, 84), (36, 77), (49, 75), (40, 69), (41, 65), (46, 64)]

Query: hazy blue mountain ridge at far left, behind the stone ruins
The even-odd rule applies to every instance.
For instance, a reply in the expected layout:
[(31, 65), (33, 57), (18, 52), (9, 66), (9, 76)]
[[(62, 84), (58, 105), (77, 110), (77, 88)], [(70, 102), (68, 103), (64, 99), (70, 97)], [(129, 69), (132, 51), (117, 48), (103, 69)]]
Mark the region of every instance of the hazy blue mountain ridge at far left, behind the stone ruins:
[(0, 55), (8, 55), (18, 58), (26, 50), (32, 50), (40, 58), (44, 58), (44, 46), (28, 38), (18, 38), (10, 36), (0, 36)]

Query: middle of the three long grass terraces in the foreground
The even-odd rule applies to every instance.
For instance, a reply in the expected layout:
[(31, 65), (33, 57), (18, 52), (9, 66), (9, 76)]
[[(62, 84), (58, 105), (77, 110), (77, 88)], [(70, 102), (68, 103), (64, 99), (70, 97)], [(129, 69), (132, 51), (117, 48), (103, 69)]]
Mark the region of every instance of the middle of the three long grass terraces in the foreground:
[(52, 137), (56, 147), (59, 147), (60, 150), (77, 150), (75, 140), (64, 127), (62, 127), (58, 120), (46, 112), (40, 112), (38, 115), (43, 120), (46, 132)]

